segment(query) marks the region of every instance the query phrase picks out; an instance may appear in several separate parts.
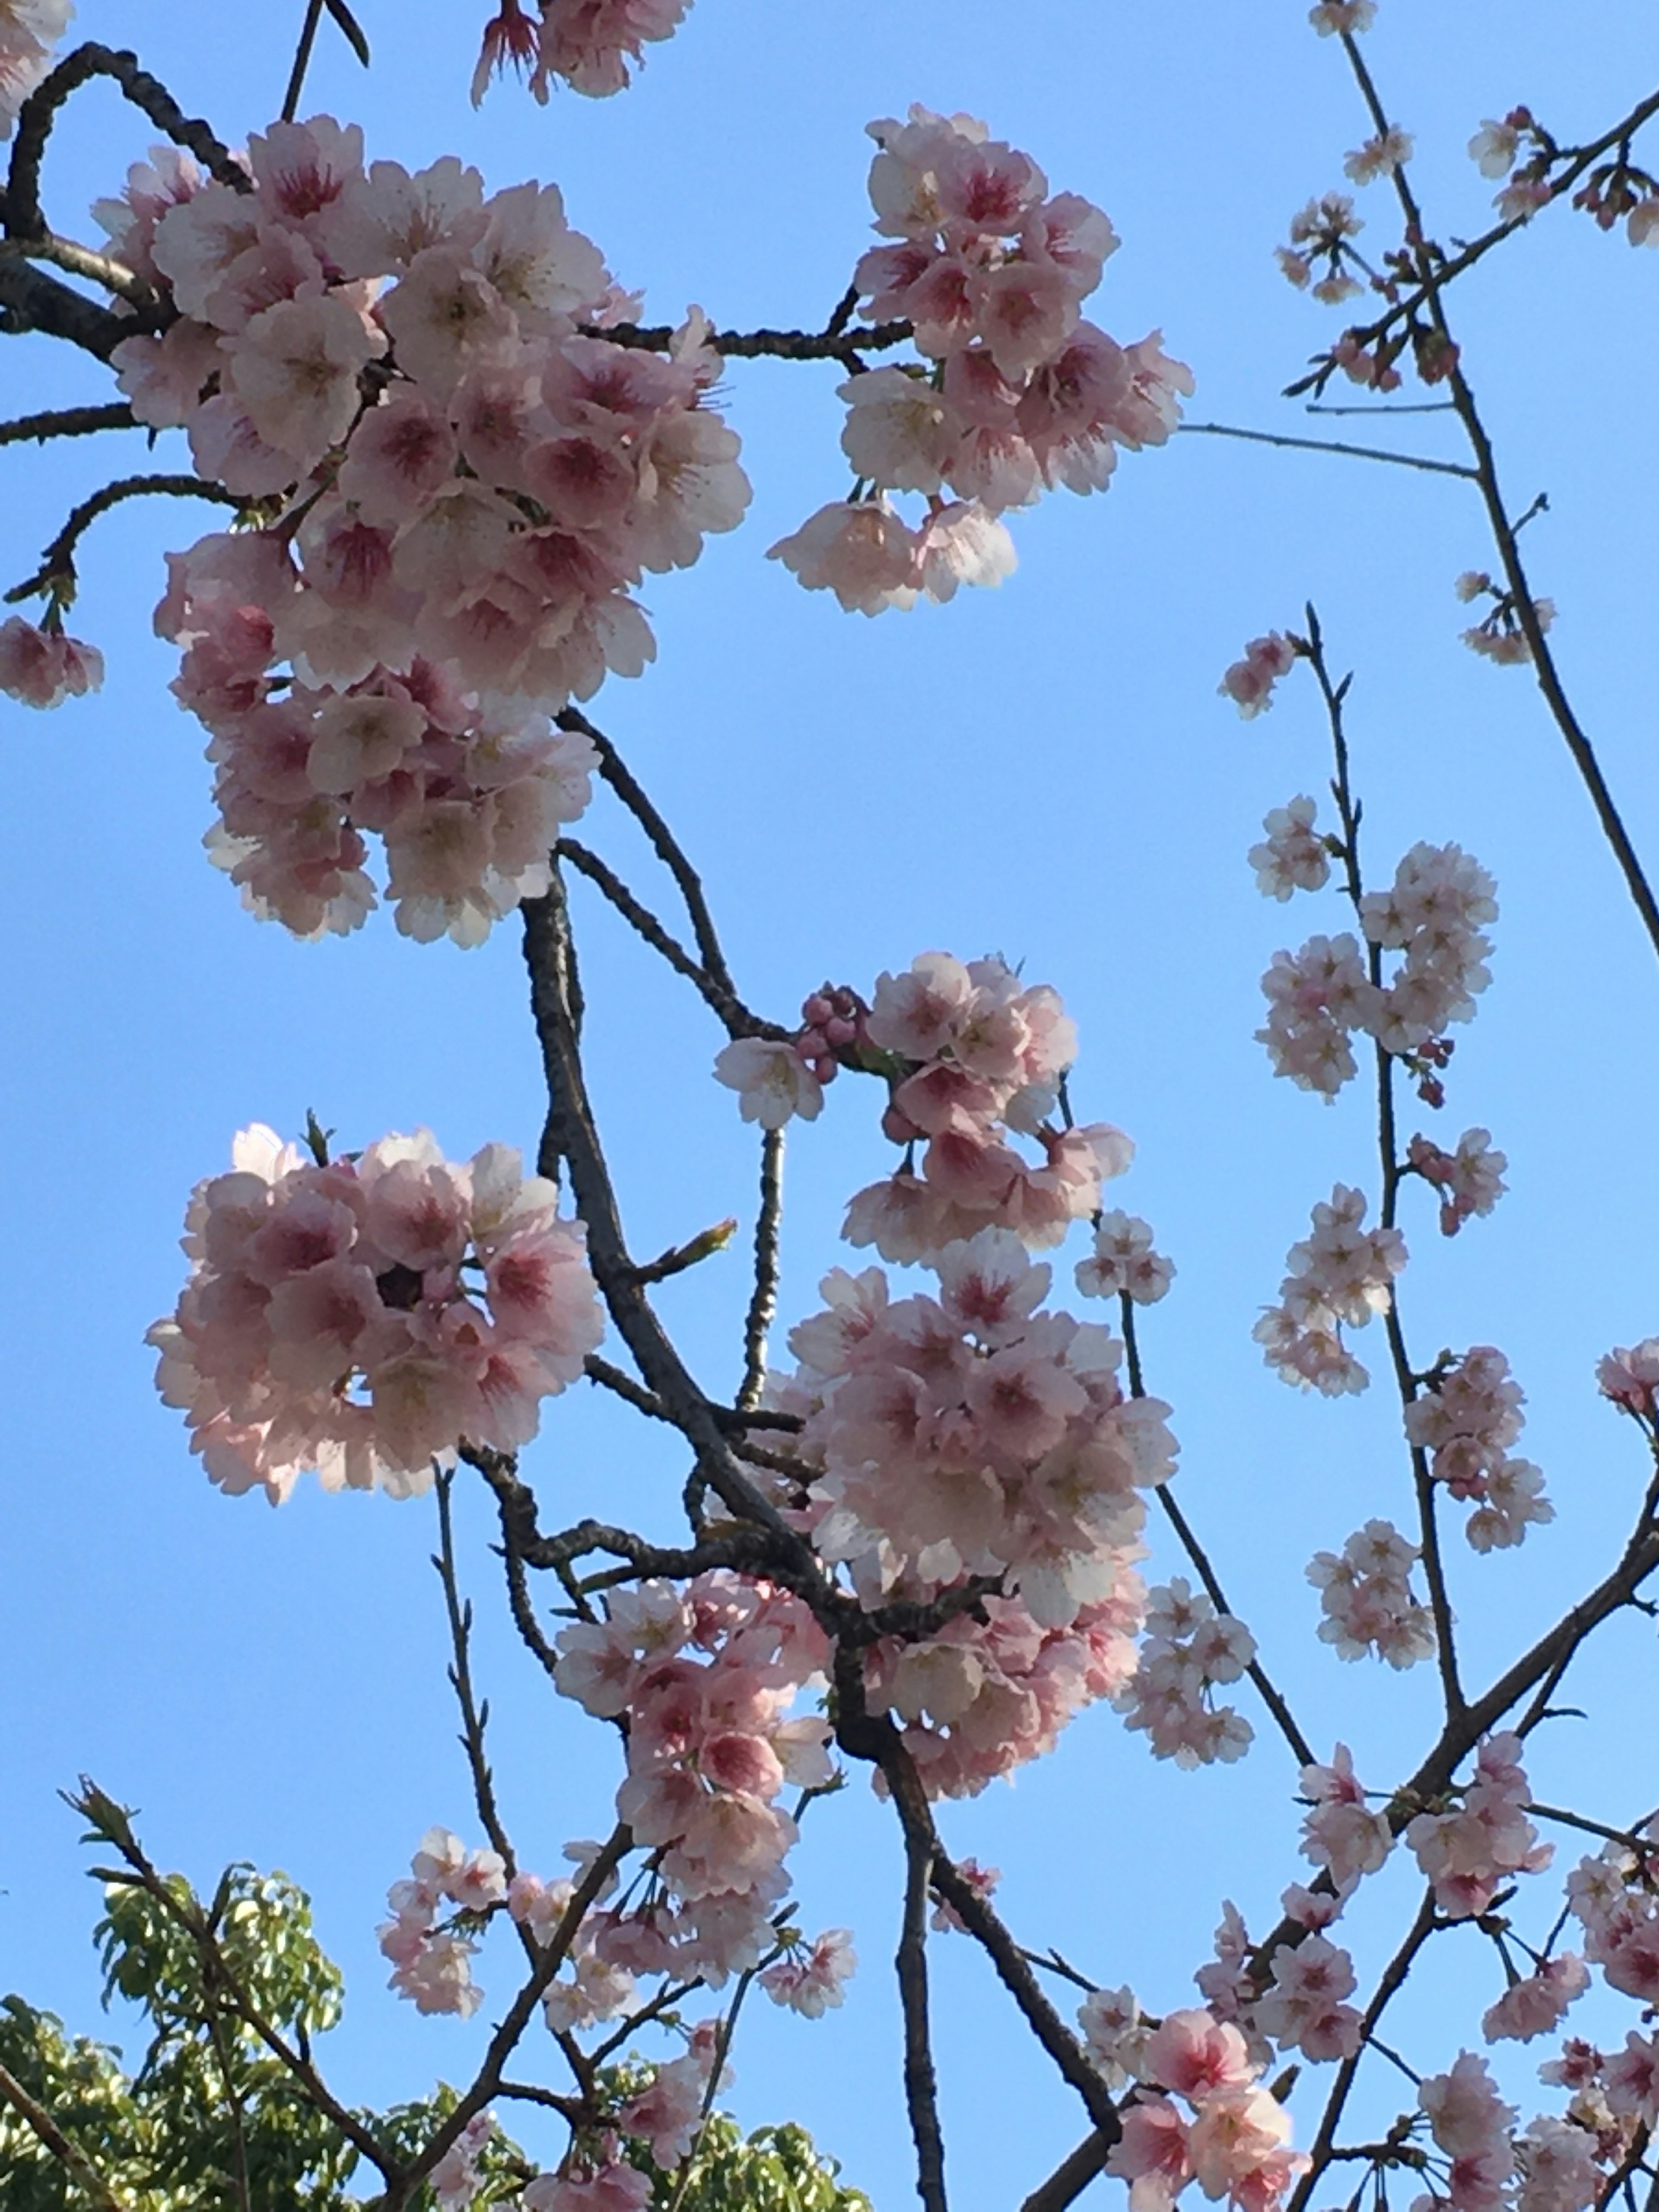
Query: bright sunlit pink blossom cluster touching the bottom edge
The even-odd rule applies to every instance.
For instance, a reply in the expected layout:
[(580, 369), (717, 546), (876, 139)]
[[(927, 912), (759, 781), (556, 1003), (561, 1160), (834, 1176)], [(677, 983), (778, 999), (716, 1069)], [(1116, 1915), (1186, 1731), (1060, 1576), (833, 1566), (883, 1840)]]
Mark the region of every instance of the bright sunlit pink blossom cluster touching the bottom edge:
[(1261, 2086), (1261, 2064), (1232, 2022), (1197, 2008), (1166, 2013), (1135, 2077), (1141, 2095), (1124, 2108), (1124, 2135), (1106, 2161), (1130, 2185), (1130, 2212), (1168, 2212), (1190, 2181), (1241, 2212), (1274, 2212), (1307, 2170), (1287, 2148), (1290, 2115)]

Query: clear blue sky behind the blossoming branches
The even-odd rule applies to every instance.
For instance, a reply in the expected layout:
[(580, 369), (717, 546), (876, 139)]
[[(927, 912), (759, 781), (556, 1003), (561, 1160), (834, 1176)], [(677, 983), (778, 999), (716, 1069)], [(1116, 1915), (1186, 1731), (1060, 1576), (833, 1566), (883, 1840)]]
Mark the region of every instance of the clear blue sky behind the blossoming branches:
[[(281, 100), (290, 13), (261, 9), (232, 31), (208, 0), (86, 0), (80, 29), (137, 46), (186, 111), (237, 142)], [(460, 153), (491, 186), (557, 181), (653, 319), (699, 301), (723, 325), (821, 321), (867, 241), (863, 126), (922, 100), (984, 115), (1053, 188), (1110, 212), (1124, 248), (1091, 312), (1121, 341), (1166, 332), (1199, 378), (1192, 420), (1321, 429), (1276, 394), (1336, 316), (1283, 283), (1272, 248), (1310, 195), (1340, 184), (1365, 124), (1338, 51), (1294, 0), (1029, 0), (1018, 15), (982, 0), (699, 0), (626, 97), (542, 111), (504, 84), (482, 113), (465, 97), (482, 0), (363, 0), (361, 13), (374, 71), (325, 35), (305, 111), (361, 119), (372, 157)], [(1467, 237), (1491, 195), (1464, 155), (1482, 117), (1526, 100), (1562, 139), (1586, 137), (1652, 88), (1659, 38), (1637, 4), (1597, 9), (1586, 29), (1542, 0), (1383, 0), (1367, 55), (1418, 135), (1431, 226)], [(46, 166), (58, 226), (86, 234), (82, 210), (146, 144), (108, 88), (77, 95)], [(1389, 243), (1383, 188), (1360, 208), (1374, 217), (1363, 243)], [(1657, 281), (1657, 254), (1555, 210), (1453, 296), (1511, 500), (1548, 493), (1528, 560), (1648, 852)], [(95, 363), (38, 338), (7, 341), (0, 372), (7, 414), (106, 394)], [(1595, 1579), (1639, 1498), (1637, 1438), (1597, 1405), (1593, 1365), (1659, 1329), (1659, 975), (1526, 672), (1458, 641), (1453, 577), (1491, 560), (1475, 495), (1451, 478), (1177, 438), (1126, 456), (1106, 495), (1015, 515), (1020, 571), (1002, 591), (863, 622), (761, 557), (845, 484), (834, 383), (834, 369), (732, 365), (750, 520), (695, 571), (653, 580), (659, 661), (593, 712), (703, 867), (752, 1004), (790, 1018), (825, 975), (869, 989), (927, 947), (1004, 951), (1064, 993), (1082, 1026), (1079, 1115), (1137, 1139), (1119, 1203), (1179, 1265), (1146, 1358), (1175, 1407), (1186, 1509), (1312, 1741), (1345, 1736), (1387, 1785), (1416, 1763), (1433, 1686), (1427, 1670), (1345, 1668), (1318, 1646), (1303, 1566), (1371, 1513), (1405, 1517), (1398, 1409), (1380, 1389), (1303, 1400), (1250, 1340), (1310, 1206), (1374, 1172), (1358, 1086), (1327, 1108), (1274, 1082), (1252, 1042), (1274, 949), (1343, 927), (1334, 898), (1261, 900), (1243, 860), (1267, 807), (1323, 787), (1325, 737), (1305, 681), (1250, 726), (1214, 688), (1248, 637), (1296, 624), (1312, 597), (1336, 666), (1356, 672), (1371, 863), (1387, 872), (1418, 838), (1455, 838), (1498, 878), (1495, 980), (1458, 1033), (1442, 1121), (1449, 1137), (1493, 1130), (1511, 1197), (1453, 1245), (1418, 1203), (1402, 1283), (1425, 1363), (1440, 1345), (1509, 1354), (1528, 1391), (1522, 1449), (1557, 1502), (1520, 1555), (1451, 1546), (1467, 1670), (1484, 1679)], [(1442, 416), (1374, 429), (1458, 456)], [(29, 573), (104, 476), (142, 467), (135, 447), (0, 453), (7, 575)], [(296, 945), (243, 916), (206, 865), (201, 732), (168, 697), (173, 650), (148, 628), (161, 553), (206, 526), (175, 507), (104, 520), (75, 611), (108, 659), (102, 695), (51, 719), (0, 703), (13, 1250), (0, 1986), (93, 2024), (95, 1898), (53, 1796), (88, 1770), (142, 1807), (164, 1865), (210, 1882), (250, 1858), (314, 1893), (347, 1971), (336, 2086), (392, 2101), (462, 2075), (482, 2046), (482, 2022), (420, 2022), (385, 1993), (374, 1951), (385, 1887), (420, 1832), (476, 1827), (442, 1681), (434, 1515), (314, 1486), (281, 1513), (217, 1495), (150, 1389), (142, 1336), (177, 1296), (186, 1194), (237, 1126), (292, 1130), (314, 1106), (354, 1144), (427, 1124), (451, 1155), (495, 1137), (533, 1146), (538, 1068), (511, 927), (473, 953), (409, 945), (385, 916), (347, 942)], [(582, 834), (648, 880), (615, 810), (595, 805)], [(748, 1214), (752, 1152), (708, 1077), (712, 1022), (608, 914), (584, 902), (580, 922), (595, 1091), (633, 1243), (655, 1252)], [(852, 1082), (792, 1133), (785, 1321), (845, 1256), (841, 1206), (885, 1155), (872, 1093)], [(737, 1254), (664, 1296), (710, 1383), (737, 1369), (741, 1298)], [(573, 1391), (526, 1473), (546, 1522), (602, 1509), (668, 1533), (684, 1469), (661, 1436)], [(564, 1838), (608, 1823), (613, 1743), (549, 1699), (515, 1646), (476, 1498), (460, 1522), (507, 1820), (522, 1858), (551, 1869)], [(1152, 1573), (1179, 1571), (1157, 1542)], [(1617, 1626), (1577, 1683), (1601, 1719), (1540, 1736), (1540, 1794), (1601, 1818), (1659, 1798), (1650, 1730), (1617, 1723), (1648, 1710), (1652, 1683), (1650, 1624)], [(1188, 1997), (1221, 1900), (1265, 1924), (1301, 1874), (1294, 1772), (1252, 1719), (1243, 1765), (1188, 1776), (1091, 1712), (1015, 1790), (945, 1807), (947, 1840), (1004, 1869), (1022, 1940), (1168, 2008)], [(812, 1812), (799, 1854), (805, 1920), (856, 1931), (849, 2002), (816, 2026), (768, 2013), (737, 2051), (739, 2112), (805, 2119), (883, 2205), (911, 2185), (887, 1971), (898, 1878), (891, 1820), (856, 1776)], [(1409, 1911), (1405, 1869), (1376, 1889), (1356, 1918), (1365, 1955), (1389, 1911)], [(1535, 1913), (1548, 1918), (1546, 1896)], [(489, 1964), (498, 1995), (511, 1966), (502, 1953), (491, 1978)], [(936, 1973), (962, 2201), (1006, 2203), (1082, 2115), (960, 1938), (938, 1944)], [(1400, 2028), (1413, 2062), (1447, 2064), (1498, 1986), (1473, 1936), (1449, 1942)], [(1524, 2095), (1528, 2068), (1513, 2079)]]

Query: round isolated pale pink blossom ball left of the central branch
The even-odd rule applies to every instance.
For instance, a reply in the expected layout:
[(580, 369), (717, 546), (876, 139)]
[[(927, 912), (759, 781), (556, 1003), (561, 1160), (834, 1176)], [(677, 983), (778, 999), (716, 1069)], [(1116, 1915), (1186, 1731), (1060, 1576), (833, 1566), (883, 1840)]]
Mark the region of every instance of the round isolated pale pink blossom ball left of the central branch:
[(208, 1475), (272, 1504), (305, 1467), (407, 1498), (462, 1440), (515, 1451), (604, 1334), (582, 1225), (504, 1144), (460, 1166), (420, 1130), (323, 1166), (254, 1126), (184, 1250), (157, 1387)]

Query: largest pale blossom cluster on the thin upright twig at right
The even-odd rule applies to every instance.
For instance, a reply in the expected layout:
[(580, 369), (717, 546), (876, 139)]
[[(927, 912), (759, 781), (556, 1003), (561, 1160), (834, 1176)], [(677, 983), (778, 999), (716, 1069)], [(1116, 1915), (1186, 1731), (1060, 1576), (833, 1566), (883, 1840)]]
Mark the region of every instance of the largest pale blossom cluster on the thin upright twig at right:
[[(1279, 874), (1263, 889), (1281, 896)], [(1347, 931), (1274, 953), (1261, 978), (1267, 1026), (1256, 1031), (1274, 1073), (1334, 1097), (1356, 1073), (1356, 1029), (1405, 1060), (1433, 1060), (1447, 1024), (1469, 1022), (1491, 982), (1484, 925), (1495, 918), (1493, 880), (1478, 860), (1460, 845), (1413, 845), (1391, 889), (1360, 900), (1367, 942), (1402, 953), (1387, 984), (1371, 982)]]

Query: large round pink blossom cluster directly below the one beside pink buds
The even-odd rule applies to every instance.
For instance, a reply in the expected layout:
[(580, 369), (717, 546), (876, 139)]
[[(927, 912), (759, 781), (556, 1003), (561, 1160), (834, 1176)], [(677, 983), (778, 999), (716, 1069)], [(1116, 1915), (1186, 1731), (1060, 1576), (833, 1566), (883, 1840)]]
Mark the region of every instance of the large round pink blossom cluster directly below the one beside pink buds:
[[(933, 1265), (938, 1296), (894, 1303), (880, 1267), (836, 1267), (825, 1312), (790, 1332), (816, 1548), (867, 1606), (989, 1575), (1035, 1624), (1068, 1628), (1139, 1557), (1139, 1491), (1175, 1471), (1170, 1409), (1124, 1396), (1108, 1329), (1040, 1312), (1051, 1270), (1006, 1230)], [(922, 1650), (907, 1648), (902, 1679), (945, 1666)], [(947, 1703), (973, 1688), (964, 1674)]]

